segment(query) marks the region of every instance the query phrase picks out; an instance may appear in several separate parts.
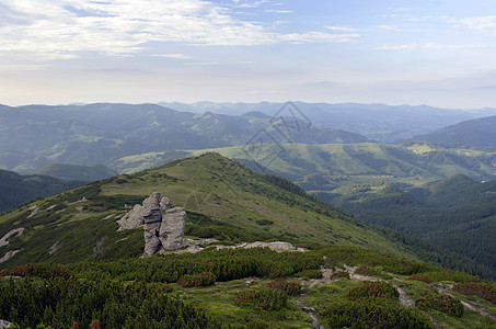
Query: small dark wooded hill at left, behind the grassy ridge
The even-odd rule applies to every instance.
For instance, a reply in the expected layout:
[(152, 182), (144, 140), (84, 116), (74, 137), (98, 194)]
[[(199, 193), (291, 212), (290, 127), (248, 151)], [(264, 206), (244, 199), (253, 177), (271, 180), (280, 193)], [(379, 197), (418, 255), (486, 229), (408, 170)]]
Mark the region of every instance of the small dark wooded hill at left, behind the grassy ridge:
[(69, 163), (51, 163), (43, 167), (37, 174), (55, 177), (61, 180), (79, 180), (94, 182), (117, 174), (103, 164), (78, 166)]

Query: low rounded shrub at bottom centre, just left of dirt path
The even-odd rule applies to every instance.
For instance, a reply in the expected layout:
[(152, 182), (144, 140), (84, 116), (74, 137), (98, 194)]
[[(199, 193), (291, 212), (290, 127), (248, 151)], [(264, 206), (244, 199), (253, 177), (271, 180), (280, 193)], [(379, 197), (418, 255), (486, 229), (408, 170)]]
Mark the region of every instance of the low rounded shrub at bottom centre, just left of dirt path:
[(288, 295), (269, 287), (244, 290), (234, 294), (234, 304), (251, 306), (254, 309), (279, 310), (287, 306)]

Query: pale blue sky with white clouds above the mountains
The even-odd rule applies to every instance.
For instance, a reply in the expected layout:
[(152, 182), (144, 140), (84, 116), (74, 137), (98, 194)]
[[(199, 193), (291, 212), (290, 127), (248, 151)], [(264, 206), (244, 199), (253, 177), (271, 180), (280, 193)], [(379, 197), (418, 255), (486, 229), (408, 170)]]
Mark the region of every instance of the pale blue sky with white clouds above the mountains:
[(496, 0), (0, 0), (0, 103), (496, 107)]

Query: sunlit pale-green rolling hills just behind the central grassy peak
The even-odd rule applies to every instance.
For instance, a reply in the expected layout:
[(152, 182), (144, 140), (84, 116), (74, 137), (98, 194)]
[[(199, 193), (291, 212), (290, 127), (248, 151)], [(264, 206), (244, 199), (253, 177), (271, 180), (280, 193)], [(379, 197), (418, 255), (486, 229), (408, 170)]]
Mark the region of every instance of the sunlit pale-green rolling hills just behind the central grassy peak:
[(134, 172), (207, 151), (256, 162), (250, 167), (296, 181), (307, 191), (331, 191), (342, 185), (378, 181), (420, 183), (455, 173), (489, 180), (496, 173), (496, 152), (426, 143), (264, 144), (254, 150), (246, 145), (134, 155), (120, 158), (109, 167), (119, 172)]

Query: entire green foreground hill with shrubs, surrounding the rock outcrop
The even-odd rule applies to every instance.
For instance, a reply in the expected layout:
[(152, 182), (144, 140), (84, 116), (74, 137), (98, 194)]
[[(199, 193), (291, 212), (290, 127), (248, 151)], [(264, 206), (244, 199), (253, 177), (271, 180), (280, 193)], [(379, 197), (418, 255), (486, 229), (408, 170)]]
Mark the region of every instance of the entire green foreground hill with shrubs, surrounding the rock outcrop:
[[(210, 247), (140, 258), (142, 228), (117, 231), (116, 220), (153, 191), (186, 207), (186, 235), (204, 246), (206, 238), (223, 247), (284, 240), (307, 251)], [(406, 237), (218, 154), (120, 174), (0, 217), (0, 236), (20, 228), (0, 247), (18, 251), (0, 263), (0, 318), (12, 328), (496, 326), (494, 282), (422, 263), (413, 247), (428, 249)]]

